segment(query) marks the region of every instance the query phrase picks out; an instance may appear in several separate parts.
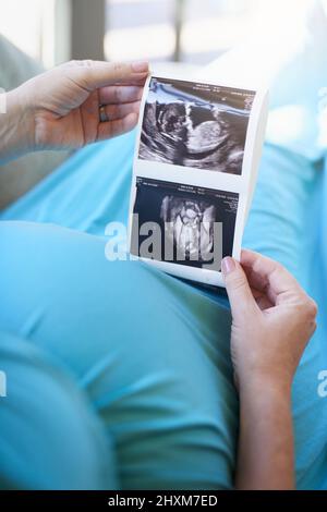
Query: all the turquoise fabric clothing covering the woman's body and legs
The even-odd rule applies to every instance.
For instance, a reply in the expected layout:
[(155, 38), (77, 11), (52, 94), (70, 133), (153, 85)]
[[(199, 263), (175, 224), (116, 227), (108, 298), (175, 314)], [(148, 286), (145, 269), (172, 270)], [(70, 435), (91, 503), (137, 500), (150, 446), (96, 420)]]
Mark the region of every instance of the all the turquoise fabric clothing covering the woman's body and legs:
[[(5, 446), (15, 446), (14, 429), (1, 429), (0, 453), (7, 456), (0, 474), (13, 486), (56, 487), (51, 461), (60, 454), (63, 465), (80, 458), (85, 471), (68, 477), (68, 487), (112, 488), (117, 477), (119, 488), (130, 489), (232, 488), (238, 397), (226, 298), (146, 265), (105, 258), (105, 225), (126, 220), (133, 146), (130, 134), (78, 151), (1, 216), (0, 329), (25, 340), (8, 343), (3, 334), (9, 385), (21, 343), (40, 352), (26, 357), (25, 369), (22, 364), (22, 381), (48, 374), (44, 357), (59, 381), (58, 390), (49, 385), (49, 400), (26, 417), (20, 434), (23, 447), (35, 447), (33, 455), (5, 453)], [(244, 240), (286, 265), (320, 305), (319, 327), (293, 387), (298, 487), (315, 489), (327, 488), (327, 402), (317, 393), (318, 373), (327, 368), (320, 167), (267, 144)], [(70, 380), (63, 395), (61, 379)], [(55, 391), (50, 412), (57, 419), (49, 431), (46, 404)], [(33, 404), (35, 397), (25, 400)], [(71, 418), (61, 414), (69, 400)], [(1, 399), (0, 422), (12, 410), (11, 425), (20, 425), (21, 403), (19, 392)], [(87, 429), (95, 416), (100, 424), (93, 425), (94, 437)], [(88, 438), (78, 454), (81, 423), (80, 436)], [(100, 456), (94, 444), (97, 438), (105, 442), (102, 428), (109, 448)], [(63, 431), (72, 443), (60, 451)], [(97, 480), (90, 471), (85, 486), (89, 459), (104, 471)], [(26, 461), (31, 471), (20, 472)]]

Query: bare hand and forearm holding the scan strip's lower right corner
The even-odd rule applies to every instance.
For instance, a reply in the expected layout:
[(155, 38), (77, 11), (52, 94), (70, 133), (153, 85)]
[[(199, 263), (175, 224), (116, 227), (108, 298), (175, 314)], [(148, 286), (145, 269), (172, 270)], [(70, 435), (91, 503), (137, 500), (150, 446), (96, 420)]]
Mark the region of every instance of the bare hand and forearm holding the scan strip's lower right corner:
[(240, 390), (239, 489), (293, 489), (291, 386), (317, 306), (278, 263), (243, 251), (222, 263)]

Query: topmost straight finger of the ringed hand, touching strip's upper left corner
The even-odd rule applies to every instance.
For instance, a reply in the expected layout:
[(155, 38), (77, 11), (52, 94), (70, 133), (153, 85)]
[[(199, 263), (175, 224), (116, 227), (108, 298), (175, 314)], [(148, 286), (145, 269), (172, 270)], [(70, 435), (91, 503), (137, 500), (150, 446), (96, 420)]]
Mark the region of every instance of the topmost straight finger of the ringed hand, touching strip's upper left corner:
[(72, 78), (87, 90), (126, 81), (142, 81), (148, 74), (147, 62), (72, 61), (66, 64)]

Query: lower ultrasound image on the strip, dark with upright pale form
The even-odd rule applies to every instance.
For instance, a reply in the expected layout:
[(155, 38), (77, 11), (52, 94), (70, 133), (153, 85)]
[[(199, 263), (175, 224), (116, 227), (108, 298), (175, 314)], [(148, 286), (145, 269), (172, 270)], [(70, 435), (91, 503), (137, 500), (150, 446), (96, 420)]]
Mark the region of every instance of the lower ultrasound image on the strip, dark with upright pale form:
[[(230, 256), (238, 203), (239, 195), (234, 193), (137, 178), (132, 254), (144, 257), (141, 247), (148, 229), (152, 232), (159, 229), (155, 239), (159, 241), (159, 251), (152, 247), (150, 259), (203, 268), (214, 263), (215, 243), (219, 243), (214, 235), (215, 223), (221, 222), (219, 253), (222, 257)], [(146, 233), (142, 227), (146, 227)], [(220, 270), (220, 263), (216, 270)]]

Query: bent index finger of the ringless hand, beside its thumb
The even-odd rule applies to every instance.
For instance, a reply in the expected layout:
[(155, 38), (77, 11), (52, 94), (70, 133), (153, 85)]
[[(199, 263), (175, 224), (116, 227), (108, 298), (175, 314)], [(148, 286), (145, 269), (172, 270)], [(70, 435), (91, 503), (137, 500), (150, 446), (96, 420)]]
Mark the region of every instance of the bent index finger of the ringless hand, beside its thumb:
[(265, 291), (272, 303), (292, 293), (303, 293), (295, 278), (270, 258), (252, 251), (242, 251), (241, 264), (244, 266), (251, 285)]

